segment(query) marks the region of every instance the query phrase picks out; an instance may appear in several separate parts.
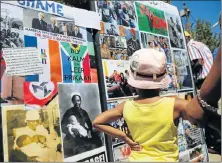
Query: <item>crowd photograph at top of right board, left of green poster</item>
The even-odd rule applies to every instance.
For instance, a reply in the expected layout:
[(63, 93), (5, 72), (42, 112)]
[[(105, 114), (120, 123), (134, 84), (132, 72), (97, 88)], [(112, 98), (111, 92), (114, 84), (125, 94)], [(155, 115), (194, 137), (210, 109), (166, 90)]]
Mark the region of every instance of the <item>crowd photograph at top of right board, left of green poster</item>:
[(98, 1), (97, 11), (106, 23), (117, 23), (125, 27), (136, 28), (136, 14), (131, 1)]

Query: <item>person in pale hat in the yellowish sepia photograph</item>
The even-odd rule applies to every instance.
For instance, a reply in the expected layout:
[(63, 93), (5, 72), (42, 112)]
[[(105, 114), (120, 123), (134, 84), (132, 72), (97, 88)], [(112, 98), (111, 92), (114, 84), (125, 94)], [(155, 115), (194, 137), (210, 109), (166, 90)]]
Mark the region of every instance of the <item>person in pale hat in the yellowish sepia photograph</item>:
[(27, 126), (13, 129), (14, 146), (9, 160), (12, 162), (56, 161), (54, 157), (59, 143), (54, 142), (55, 139), (50, 137), (48, 130), (41, 124), (39, 112), (26, 111), (25, 122)]

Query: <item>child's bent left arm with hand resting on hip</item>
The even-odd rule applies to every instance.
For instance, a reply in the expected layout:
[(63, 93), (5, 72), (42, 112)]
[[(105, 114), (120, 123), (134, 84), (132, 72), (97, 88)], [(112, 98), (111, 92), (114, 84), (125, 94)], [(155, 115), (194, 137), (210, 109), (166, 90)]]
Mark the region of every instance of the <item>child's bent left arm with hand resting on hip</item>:
[(93, 121), (93, 127), (95, 127), (100, 131), (105, 132), (110, 136), (124, 140), (127, 144), (129, 144), (132, 150), (139, 151), (141, 150), (141, 147), (140, 145), (138, 145), (138, 143), (135, 143), (133, 140), (127, 137), (127, 135), (124, 132), (108, 125), (108, 123), (122, 117), (124, 104), (125, 102), (121, 103), (114, 109), (110, 109), (108, 111), (99, 114), (96, 117), (96, 119)]

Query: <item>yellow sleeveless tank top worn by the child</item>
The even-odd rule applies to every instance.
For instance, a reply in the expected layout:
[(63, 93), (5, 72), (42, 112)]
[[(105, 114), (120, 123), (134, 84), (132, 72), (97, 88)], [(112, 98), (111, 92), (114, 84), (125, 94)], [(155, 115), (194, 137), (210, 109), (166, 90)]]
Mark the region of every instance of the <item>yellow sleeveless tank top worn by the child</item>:
[(150, 104), (125, 103), (123, 117), (135, 142), (143, 149), (131, 151), (129, 161), (176, 162), (179, 160), (177, 127), (174, 125), (174, 98)]

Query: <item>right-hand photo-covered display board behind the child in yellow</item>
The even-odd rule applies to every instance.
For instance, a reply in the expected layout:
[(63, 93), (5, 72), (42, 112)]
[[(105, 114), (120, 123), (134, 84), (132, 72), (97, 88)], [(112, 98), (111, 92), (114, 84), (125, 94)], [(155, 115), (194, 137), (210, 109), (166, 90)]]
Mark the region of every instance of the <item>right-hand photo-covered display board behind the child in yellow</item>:
[[(129, 59), (140, 48), (155, 48), (166, 55), (172, 83), (162, 90), (162, 95), (184, 99), (187, 93), (193, 96), (186, 42), (176, 7), (161, 1), (97, 1), (95, 6), (101, 17), (100, 46), (108, 109), (136, 96), (127, 79)], [(111, 125), (130, 134), (123, 118)], [(208, 160), (202, 129), (181, 119), (178, 136), (180, 161), (198, 157)], [(126, 160), (130, 148), (117, 138), (112, 138), (112, 144), (114, 160)]]

